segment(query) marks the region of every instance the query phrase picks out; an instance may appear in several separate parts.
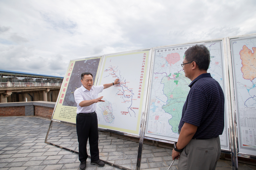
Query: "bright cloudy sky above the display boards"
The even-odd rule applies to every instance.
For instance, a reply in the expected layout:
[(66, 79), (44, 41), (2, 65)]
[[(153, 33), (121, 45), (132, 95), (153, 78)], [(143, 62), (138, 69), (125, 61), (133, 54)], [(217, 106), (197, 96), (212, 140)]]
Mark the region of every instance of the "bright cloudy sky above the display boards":
[(0, 69), (256, 33), (255, 0), (0, 0)]

